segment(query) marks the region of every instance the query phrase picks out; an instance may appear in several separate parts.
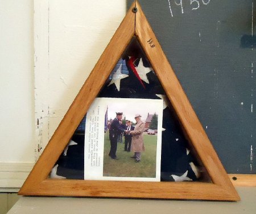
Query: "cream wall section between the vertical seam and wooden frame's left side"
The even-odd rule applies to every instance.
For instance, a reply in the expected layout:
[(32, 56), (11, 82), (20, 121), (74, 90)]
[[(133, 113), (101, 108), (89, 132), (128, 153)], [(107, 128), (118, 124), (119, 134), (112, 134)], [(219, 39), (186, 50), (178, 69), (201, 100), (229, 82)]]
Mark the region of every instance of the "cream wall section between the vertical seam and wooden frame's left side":
[(35, 0), (36, 143), (42, 150), (125, 14), (125, 0)]

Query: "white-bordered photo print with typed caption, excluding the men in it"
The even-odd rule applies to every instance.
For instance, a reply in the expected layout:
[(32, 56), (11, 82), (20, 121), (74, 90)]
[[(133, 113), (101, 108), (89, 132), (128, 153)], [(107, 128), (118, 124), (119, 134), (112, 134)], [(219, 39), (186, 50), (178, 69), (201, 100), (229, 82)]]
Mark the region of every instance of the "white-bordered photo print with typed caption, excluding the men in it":
[[(111, 132), (110, 127), (117, 112), (122, 112), (118, 121), (122, 129), (126, 129), (126, 123), (129, 121), (131, 129), (134, 130), (135, 116), (141, 116), (143, 152), (140, 161), (135, 160), (133, 150), (133, 143), (138, 135), (125, 135), (125, 132), (121, 131), (116, 137), (118, 158), (113, 159), (110, 156), (111, 140), (113, 135), (117, 135)], [(84, 179), (160, 181), (162, 120), (163, 100), (96, 98), (86, 116)], [(125, 141), (130, 137), (131, 148), (127, 150)]]

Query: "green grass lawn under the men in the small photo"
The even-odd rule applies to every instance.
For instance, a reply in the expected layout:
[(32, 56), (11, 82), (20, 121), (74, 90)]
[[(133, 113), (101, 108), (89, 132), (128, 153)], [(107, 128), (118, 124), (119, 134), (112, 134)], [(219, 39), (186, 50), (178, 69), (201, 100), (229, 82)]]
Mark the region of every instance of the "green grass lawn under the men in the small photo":
[(109, 157), (110, 140), (105, 134), (104, 141), (104, 177), (141, 177), (155, 178), (156, 176), (156, 142), (157, 136), (144, 135), (145, 152), (141, 153), (141, 162), (136, 163), (133, 152), (123, 151), (125, 148), (125, 139), (123, 143), (117, 143), (118, 160)]

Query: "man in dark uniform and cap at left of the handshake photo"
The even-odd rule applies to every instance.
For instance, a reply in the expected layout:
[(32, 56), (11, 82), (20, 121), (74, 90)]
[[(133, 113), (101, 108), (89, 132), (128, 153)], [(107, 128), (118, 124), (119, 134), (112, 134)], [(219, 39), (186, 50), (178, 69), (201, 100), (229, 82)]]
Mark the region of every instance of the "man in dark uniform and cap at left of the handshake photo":
[(116, 112), (116, 117), (111, 123), (111, 127), (109, 130), (109, 137), (110, 137), (110, 152), (109, 156), (114, 159), (118, 160), (116, 156), (117, 152), (117, 137), (120, 135), (122, 132), (127, 132), (127, 130), (123, 129), (119, 123), (119, 121), (122, 121), (123, 113), (122, 112)]

